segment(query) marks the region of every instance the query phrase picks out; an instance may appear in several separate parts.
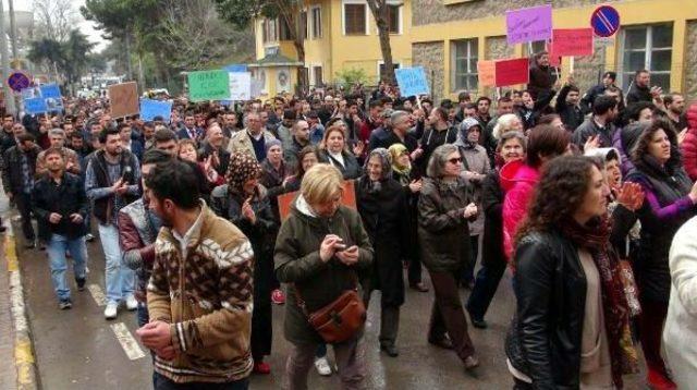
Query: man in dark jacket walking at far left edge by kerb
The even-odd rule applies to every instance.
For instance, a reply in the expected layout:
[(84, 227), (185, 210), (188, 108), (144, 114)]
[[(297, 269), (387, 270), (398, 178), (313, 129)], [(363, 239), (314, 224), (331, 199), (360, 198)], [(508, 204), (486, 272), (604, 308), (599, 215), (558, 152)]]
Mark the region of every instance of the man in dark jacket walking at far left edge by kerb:
[(34, 242), (36, 235), (32, 226), (32, 192), (36, 174), (36, 158), (40, 151), (41, 148), (36, 145), (34, 135), (22, 133), (17, 136), (17, 144), (5, 150), (3, 155), (2, 186), (10, 200), (17, 206), (27, 248), (36, 246)]

